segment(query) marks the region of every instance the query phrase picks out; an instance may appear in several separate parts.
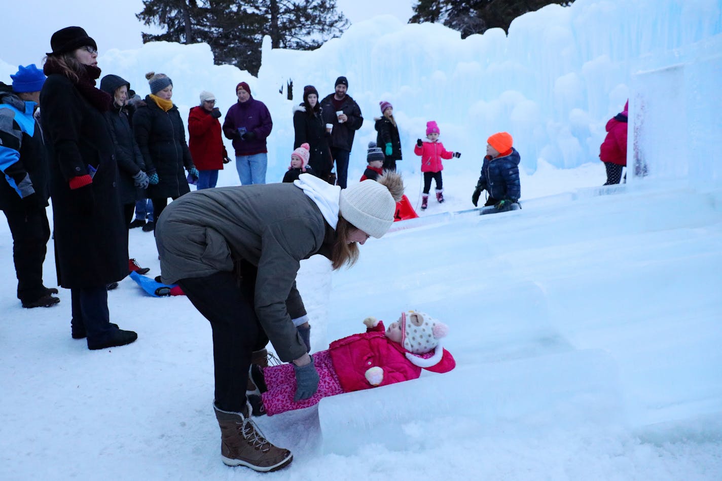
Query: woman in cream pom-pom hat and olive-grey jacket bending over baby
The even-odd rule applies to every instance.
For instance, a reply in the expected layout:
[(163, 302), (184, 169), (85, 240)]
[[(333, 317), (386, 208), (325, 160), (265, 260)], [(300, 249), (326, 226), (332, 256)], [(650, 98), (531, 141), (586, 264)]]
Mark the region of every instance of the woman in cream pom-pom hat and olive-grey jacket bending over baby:
[(225, 464), (272, 471), (291, 462), (290, 451), (266, 441), (251, 421), (251, 358), (270, 340), (279, 358), (295, 365), (296, 397), (313, 396), (318, 373), (296, 289), (300, 261), (321, 254), (333, 269), (351, 266), (358, 244), (391, 227), (403, 193), (396, 173), (343, 190), (301, 174), (294, 183), (195, 191), (157, 220), (163, 282), (181, 285), (211, 323)]

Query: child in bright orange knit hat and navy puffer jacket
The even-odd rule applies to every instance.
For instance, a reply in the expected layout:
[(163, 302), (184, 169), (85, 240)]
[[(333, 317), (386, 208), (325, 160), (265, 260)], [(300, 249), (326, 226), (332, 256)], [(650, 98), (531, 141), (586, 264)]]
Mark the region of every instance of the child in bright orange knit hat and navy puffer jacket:
[(479, 175), (477, 188), (471, 195), (471, 202), (476, 207), (482, 191), (489, 193), (484, 207), (494, 206), (494, 209), (486, 209), (482, 214), (506, 212), (521, 207), (518, 203), (521, 196), (520, 161), (519, 152), (513, 147), (513, 139), (508, 132), (497, 132), (487, 139), (487, 155), (484, 157), (482, 173)]

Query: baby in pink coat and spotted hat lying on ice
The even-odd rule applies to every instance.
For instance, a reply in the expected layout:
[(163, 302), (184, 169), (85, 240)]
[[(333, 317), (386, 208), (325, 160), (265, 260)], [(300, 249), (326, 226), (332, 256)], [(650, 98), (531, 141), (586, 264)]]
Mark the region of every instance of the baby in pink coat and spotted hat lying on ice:
[(451, 353), (440, 344), (448, 327), (428, 314), (403, 312), (386, 330), (383, 322), (373, 317), (363, 323), (366, 332), (338, 339), (328, 350), (313, 354), (320, 381), (318, 391), (309, 399), (294, 402), (296, 381), (291, 364), (264, 368), (263, 380), (254, 376), (266, 414), (313, 406), (335, 394), (416, 379), (422, 368), (447, 373), (456, 366)]

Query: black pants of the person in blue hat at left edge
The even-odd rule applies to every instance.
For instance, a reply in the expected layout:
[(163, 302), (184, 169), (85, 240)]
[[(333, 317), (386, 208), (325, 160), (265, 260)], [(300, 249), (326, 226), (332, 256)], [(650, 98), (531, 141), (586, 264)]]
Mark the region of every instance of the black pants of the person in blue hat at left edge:
[(50, 225), (45, 207), (18, 207), (3, 211), (12, 234), (12, 260), (17, 276), (17, 298), (31, 303), (45, 295), (43, 262), (48, 251)]

